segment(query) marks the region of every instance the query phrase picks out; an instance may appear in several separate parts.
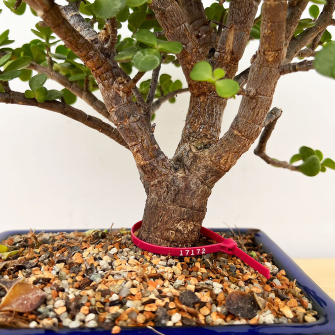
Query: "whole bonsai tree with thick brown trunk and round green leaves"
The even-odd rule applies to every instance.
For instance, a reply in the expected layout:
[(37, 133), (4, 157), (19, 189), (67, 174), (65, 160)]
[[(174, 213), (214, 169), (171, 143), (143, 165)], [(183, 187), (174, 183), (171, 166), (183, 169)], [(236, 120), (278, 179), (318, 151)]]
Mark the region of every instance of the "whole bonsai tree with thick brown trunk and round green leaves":
[[(25, 2), (42, 19), (33, 29), (38, 38), (13, 49), (6, 45), (9, 31), (1, 33), (0, 102), (62, 113), (130, 150), (147, 194), (141, 239), (168, 246), (196, 242), (212, 187), (259, 135), (255, 153), (271, 165), (308, 176), (335, 168), (306, 146), (289, 162), (265, 151), (281, 114), (271, 108), (280, 76), (313, 68), (335, 76), (335, 44), (327, 31), (335, 1), (231, 0), (206, 8), (195, 0)], [(25, 2), (4, 1), (16, 14), (24, 13)], [(121, 25), (131, 37), (118, 33)], [(258, 50), (237, 73), (250, 39), (259, 39)], [(164, 73), (168, 63), (180, 66), (187, 88)], [(151, 79), (141, 80), (147, 71)], [(25, 92), (11, 90), (17, 77), (28, 81)], [(47, 78), (64, 89), (48, 90)], [(97, 89), (103, 102), (93, 94)], [(187, 116), (168, 158), (154, 137), (154, 116), (183, 91), (190, 93)], [(238, 112), (220, 137), (227, 99), (236, 94), (242, 95)], [(72, 106), (76, 97), (114, 126)]]

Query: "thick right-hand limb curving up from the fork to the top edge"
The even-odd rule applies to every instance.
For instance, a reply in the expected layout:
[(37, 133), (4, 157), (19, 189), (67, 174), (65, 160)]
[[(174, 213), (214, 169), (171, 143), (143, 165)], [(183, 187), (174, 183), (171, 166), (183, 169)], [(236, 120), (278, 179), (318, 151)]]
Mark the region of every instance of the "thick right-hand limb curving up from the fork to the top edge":
[[(236, 163), (260, 134), (280, 77), (279, 68), (285, 57), (287, 3), (286, 0), (264, 0), (262, 8), (259, 47), (246, 86), (253, 88), (257, 95), (242, 97), (228, 131), (199, 156), (198, 163), (202, 162), (203, 169), (198, 177), (209, 186)], [(193, 170), (192, 166), (188, 168)]]

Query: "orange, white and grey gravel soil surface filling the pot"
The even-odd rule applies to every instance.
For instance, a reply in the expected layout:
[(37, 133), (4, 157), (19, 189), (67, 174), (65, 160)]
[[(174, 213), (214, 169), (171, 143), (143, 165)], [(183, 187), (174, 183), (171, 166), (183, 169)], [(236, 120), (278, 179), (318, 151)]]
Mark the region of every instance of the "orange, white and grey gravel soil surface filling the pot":
[[(222, 252), (171, 257), (136, 247), (125, 229), (13, 235), (0, 242), (0, 327), (312, 322), (317, 312), (253, 241), (232, 237), (267, 280)], [(204, 237), (199, 245), (208, 244)], [(14, 251), (14, 252), (12, 252)], [(1, 258), (2, 257), (2, 258)]]

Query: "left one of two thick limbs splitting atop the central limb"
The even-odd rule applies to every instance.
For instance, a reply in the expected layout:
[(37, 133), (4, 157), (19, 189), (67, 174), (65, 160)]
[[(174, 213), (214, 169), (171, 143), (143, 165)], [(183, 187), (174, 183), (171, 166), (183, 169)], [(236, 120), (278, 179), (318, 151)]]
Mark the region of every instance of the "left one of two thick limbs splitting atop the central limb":
[(152, 0), (149, 7), (154, 11), (157, 21), (170, 41), (178, 41), (183, 49), (176, 54), (189, 86), (194, 84), (189, 73), (197, 61), (203, 60), (203, 54), (194, 31), (185, 21), (183, 13), (174, 0)]

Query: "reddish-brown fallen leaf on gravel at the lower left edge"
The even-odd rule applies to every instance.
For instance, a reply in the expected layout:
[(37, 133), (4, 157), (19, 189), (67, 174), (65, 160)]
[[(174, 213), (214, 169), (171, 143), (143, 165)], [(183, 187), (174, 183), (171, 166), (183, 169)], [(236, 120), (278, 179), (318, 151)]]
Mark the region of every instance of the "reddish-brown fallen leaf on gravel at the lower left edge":
[(1, 299), (0, 311), (15, 310), (27, 312), (36, 309), (44, 300), (45, 292), (36, 285), (25, 281), (17, 281)]

